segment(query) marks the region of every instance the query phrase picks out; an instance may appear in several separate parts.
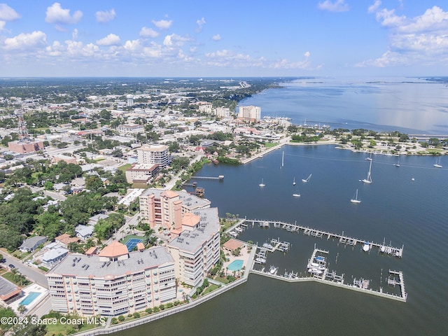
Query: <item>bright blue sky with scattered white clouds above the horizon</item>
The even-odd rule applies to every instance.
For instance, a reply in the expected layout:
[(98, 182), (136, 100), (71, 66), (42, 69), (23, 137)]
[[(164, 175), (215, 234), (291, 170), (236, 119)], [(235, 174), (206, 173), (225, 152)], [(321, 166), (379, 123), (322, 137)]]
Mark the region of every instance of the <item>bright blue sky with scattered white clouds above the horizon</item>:
[(0, 2), (3, 77), (358, 75), (448, 75), (447, 1)]

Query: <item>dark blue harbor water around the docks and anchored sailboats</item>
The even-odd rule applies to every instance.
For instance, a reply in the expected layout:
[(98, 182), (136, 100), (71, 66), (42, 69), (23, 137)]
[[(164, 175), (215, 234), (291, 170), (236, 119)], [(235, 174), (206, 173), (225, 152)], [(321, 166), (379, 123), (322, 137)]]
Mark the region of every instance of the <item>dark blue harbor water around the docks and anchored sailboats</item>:
[[(281, 153), (285, 152), (285, 165)], [(289, 253), (269, 254), (267, 265), (306, 270), (314, 244), (330, 251), (330, 268), (370, 279), (388, 293), (388, 269), (402, 270), (406, 303), (318, 283), (284, 283), (251, 274), (248, 282), (200, 307), (116, 335), (448, 335), (448, 160), (374, 155), (371, 185), (365, 154), (335, 146), (286, 146), (248, 165), (208, 165), (198, 175), (225, 175), (223, 182), (198, 181), (221, 216), (300, 223), (352, 237), (405, 245), (402, 259), (291, 233), (251, 228), (241, 239), (262, 244), (290, 241)], [(308, 183), (302, 179), (312, 173)], [(293, 179), (297, 185), (293, 186)], [(265, 187), (258, 184), (264, 179)], [(412, 181), (414, 179), (414, 181)], [(301, 197), (293, 197), (299, 190)], [(351, 204), (356, 189), (361, 204)], [(337, 260), (336, 260), (337, 257)], [(382, 274), (382, 276), (381, 276)]]

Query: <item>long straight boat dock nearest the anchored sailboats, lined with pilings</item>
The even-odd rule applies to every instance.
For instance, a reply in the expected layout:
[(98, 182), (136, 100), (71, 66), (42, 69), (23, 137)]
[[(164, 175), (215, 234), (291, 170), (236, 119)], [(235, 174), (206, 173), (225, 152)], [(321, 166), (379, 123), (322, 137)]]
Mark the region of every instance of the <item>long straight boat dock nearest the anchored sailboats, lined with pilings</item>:
[(326, 238), (326, 239), (337, 239), (339, 240), (339, 243), (356, 246), (357, 244), (364, 245), (365, 241), (368, 241), (370, 244), (370, 248), (378, 248), (381, 253), (388, 254), (388, 255), (394, 255), (395, 257), (402, 258), (403, 255), (403, 248), (402, 247), (393, 247), (393, 246), (385, 246), (383, 243), (376, 243), (374, 241), (370, 241), (368, 239), (358, 239), (353, 237), (348, 237), (344, 235), (344, 232), (342, 232), (342, 235), (339, 235), (337, 233), (327, 232), (323, 230), (316, 230), (313, 228), (308, 228), (302, 225), (290, 224), (290, 223), (283, 223), (278, 221), (260, 221), (260, 220), (251, 220), (251, 219), (245, 219), (244, 222), (247, 225), (252, 225), (252, 227), (256, 224), (260, 226), (260, 228), (270, 228), (271, 224), (274, 226), (274, 228), (282, 228), (284, 230), (287, 230), (289, 232), (303, 232), (304, 235), (312, 236), (312, 237), (318, 237), (318, 238)]

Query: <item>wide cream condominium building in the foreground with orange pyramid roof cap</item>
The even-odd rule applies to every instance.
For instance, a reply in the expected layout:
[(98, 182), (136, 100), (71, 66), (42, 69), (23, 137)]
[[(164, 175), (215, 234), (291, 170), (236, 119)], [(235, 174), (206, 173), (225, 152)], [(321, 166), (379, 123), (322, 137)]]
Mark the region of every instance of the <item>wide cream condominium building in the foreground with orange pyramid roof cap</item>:
[(46, 274), (52, 309), (80, 316), (132, 314), (176, 298), (165, 247), (128, 252), (113, 241), (97, 255), (73, 253)]

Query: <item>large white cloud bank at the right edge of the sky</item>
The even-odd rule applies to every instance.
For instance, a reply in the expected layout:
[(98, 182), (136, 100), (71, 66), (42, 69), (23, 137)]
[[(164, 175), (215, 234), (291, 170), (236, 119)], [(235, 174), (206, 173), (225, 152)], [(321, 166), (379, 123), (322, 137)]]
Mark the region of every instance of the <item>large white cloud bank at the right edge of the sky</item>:
[[(377, 2), (375, 2), (376, 4)], [(433, 6), (414, 18), (397, 15), (395, 10), (371, 6), (376, 20), (389, 30), (388, 50), (377, 59), (356, 66), (397, 66), (435, 64), (448, 59), (448, 12)]]

